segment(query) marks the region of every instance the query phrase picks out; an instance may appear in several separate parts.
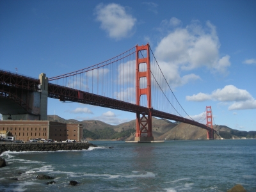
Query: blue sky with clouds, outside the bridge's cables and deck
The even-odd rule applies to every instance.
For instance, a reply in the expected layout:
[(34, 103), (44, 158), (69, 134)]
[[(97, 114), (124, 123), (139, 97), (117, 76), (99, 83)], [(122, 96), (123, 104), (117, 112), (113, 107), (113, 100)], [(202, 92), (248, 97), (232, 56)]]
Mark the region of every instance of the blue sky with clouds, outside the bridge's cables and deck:
[[(215, 124), (256, 131), (255, 10), (256, 1), (1, 0), (0, 68), (53, 77), (149, 43), (191, 117), (211, 106)], [(48, 115), (67, 119), (120, 124), (135, 118), (48, 102)]]

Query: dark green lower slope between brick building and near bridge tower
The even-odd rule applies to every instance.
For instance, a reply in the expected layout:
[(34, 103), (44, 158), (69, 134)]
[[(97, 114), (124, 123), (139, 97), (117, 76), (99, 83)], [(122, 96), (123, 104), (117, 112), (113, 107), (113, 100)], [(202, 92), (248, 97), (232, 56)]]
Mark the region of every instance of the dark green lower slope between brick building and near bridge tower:
[(117, 140), (118, 138), (128, 138), (135, 132), (135, 129), (127, 129), (121, 132), (116, 132), (111, 127), (104, 129), (96, 129), (95, 131), (88, 131), (84, 129), (83, 138), (91, 138), (93, 140)]

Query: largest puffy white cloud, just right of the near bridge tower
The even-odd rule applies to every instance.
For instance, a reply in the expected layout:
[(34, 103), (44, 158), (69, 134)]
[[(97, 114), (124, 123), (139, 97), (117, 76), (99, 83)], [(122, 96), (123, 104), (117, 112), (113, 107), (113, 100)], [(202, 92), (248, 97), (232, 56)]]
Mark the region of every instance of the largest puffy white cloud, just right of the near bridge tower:
[[(175, 17), (170, 20), (173, 26), (178, 26), (180, 22)], [(172, 81), (173, 73), (170, 73), (170, 70), (178, 74), (176, 76), (179, 76), (181, 71), (202, 67), (208, 68), (212, 73), (228, 74), (230, 56), (220, 57), (219, 49), (216, 27), (208, 21), (203, 28), (199, 22), (193, 21), (186, 28), (177, 27), (164, 36), (155, 53), (160, 67), (164, 68), (164, 76), (169, 78), (169, 83), (172, 86), (180, 86), (181, 82)], [(169, 70), (166, 70), (167, 68)], [(195, 76), (188, 76), (187, 82), (195, 80)], [(197, 76), (196, 79), (200, 77)]]

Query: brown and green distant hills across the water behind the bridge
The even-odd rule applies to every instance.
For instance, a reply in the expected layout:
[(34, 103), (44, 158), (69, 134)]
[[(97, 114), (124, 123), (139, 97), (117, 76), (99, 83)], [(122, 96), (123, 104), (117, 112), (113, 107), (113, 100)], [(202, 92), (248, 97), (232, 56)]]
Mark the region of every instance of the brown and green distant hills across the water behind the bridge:
[[(58, 115), (48, 115), (48, 120), (55, 120), (65, 124), (83, 124), (83, 137), (90, 140), (134, 140), (136, 120), (120, 125), (109, 125), (99, 120), (77, 121), (65, 120)], [(238, 131), (224, 125), (214, 127), (220, 133), (220, 137), (231, 138), (256, 138), (256, 131)], [(154, 140), (206, 140), (207, 131), (189, 124), (176, 124), (166, 119), (152, 118), (152, 133)], [(219, 138), (216, 136), (216, 138)]]

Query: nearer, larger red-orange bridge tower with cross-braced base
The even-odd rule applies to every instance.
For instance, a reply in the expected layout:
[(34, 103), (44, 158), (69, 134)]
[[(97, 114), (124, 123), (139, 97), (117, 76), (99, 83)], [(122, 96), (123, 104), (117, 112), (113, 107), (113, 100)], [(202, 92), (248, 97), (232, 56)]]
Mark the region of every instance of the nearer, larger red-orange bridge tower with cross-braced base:
[[(149, 44), (141, 46), (136, 45), (136, 104), (140, 105), (141, 95), (146, 95), (148, 111), (147, 113), (136, 113), (135, 141), (154, 141), (154, 137), (152, 135), (151, 72), (149, 49)], [(146, 51), (147, 57), (141, 57), (141, 51)], [(141, 63), (146, 63), (146, 71), (140, 71)], [(147, 88), (140, 88), (141, 77), (147, 78)]]

